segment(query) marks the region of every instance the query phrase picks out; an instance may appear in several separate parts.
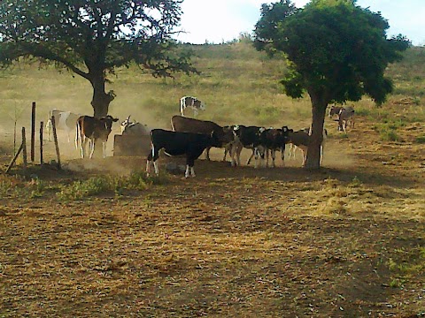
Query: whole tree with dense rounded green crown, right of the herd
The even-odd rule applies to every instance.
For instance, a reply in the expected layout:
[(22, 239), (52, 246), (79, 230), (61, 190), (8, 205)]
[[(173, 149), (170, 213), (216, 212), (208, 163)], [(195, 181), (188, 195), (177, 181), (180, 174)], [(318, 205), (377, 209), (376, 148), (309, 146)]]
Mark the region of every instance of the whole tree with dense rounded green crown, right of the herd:
[(362, 95), (381, 104), (392, 91), (385, 69), (402, 57), (410, 42), (401, 34), (387, 39), (388, 28), (380, 13), (357, 6), (355, 0), (312, 0), (304, 9), (295, 9), (290, 0), (263, 4), (254, 45), (269, 53), (283, 52), (288, 61), (282, 79), (285, 93), (300, 98), (306, 92), (312, 101), (306, 168), (320, 167), (328, 104), (359, 101)]

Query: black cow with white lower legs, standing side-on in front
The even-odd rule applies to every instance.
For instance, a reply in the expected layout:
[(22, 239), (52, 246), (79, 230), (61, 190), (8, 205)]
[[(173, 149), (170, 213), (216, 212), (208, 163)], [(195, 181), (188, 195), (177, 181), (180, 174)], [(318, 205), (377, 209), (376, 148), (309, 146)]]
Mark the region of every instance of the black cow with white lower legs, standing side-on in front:
[(211, 134), (171, 132), (164, 129), (153, 129), (151, 131), (151, 153), (146, 163), (146, 173), (151, 172), (151, 162), (158, 175), (157, 159), (159, 150), (164, 148), (167, 155), (186, 155), (185, 178), (195, 177), (193, 168), (195, 160), (203, 153), (205, 148), (220, 147), (221, 141), (215, 132)]

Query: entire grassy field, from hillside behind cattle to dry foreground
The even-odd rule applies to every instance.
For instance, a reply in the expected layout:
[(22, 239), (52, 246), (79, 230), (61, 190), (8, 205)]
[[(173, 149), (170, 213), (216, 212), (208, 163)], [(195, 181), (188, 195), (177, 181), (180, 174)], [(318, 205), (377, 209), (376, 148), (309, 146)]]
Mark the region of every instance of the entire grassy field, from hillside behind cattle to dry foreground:
[[(282, 61), (246, 43), (193, 49), (200, 76), (119, 70), (112, 115), (166, 127), (180, 97), (196, 95), (201, 117), (223, 125), (310, 122), (308, 98), (280, 91)], [(143, 157), (73, 160), (61, 140), (65, 170), (0, 173), (0, 317), (423, 317), (424, 57), (412, 48), (390, 65), (394, 94), (379, 109), (354, 103), (348, 133), (326, 118), (318, 171), (299, 154), (274, 169), (230, 167), (213, 149), (197, 178), (164, 172), (184, 164), (166, 156), (147, 178)], [(0, 87), (4, 166), (15, 110), (18, 126), (33, 101), (39, 119), (53, 107), (92, 113), (89, 83), (51, 68), (1, 72)]]

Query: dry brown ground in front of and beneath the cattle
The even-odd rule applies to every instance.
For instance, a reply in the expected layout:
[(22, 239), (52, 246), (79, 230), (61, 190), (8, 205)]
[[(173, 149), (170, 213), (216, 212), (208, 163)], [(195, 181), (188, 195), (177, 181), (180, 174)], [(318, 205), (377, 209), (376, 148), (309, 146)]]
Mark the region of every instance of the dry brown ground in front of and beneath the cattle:
[(215, 149), (196, 178), (76, 201), (55, 184), (145, 161), (81, 160), (62, 142), (65, 170), (0, 176), (50, 185), (0, 197), (0, 317), (423, 317), (425, 149), (413, 140), (425, 129), (400, 133), (383, 142), (370, 123), (335, 127), (319, 171), (301, 169), (299, 153), (285, 167), (234, 168)]

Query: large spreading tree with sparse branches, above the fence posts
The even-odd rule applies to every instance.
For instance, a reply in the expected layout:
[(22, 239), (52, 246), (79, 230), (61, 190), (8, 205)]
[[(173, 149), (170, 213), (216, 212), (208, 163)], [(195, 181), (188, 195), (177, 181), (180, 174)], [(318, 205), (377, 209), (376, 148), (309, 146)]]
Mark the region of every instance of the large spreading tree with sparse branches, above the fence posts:
[(152, 75), (196, 72), (190, 53), (170, 41), (182, 0), (4, 0), (0, 66), (22, 57), (52, 63), (88, 79), (95, 117), (108, 113), (108, 74), (138, 64)]

